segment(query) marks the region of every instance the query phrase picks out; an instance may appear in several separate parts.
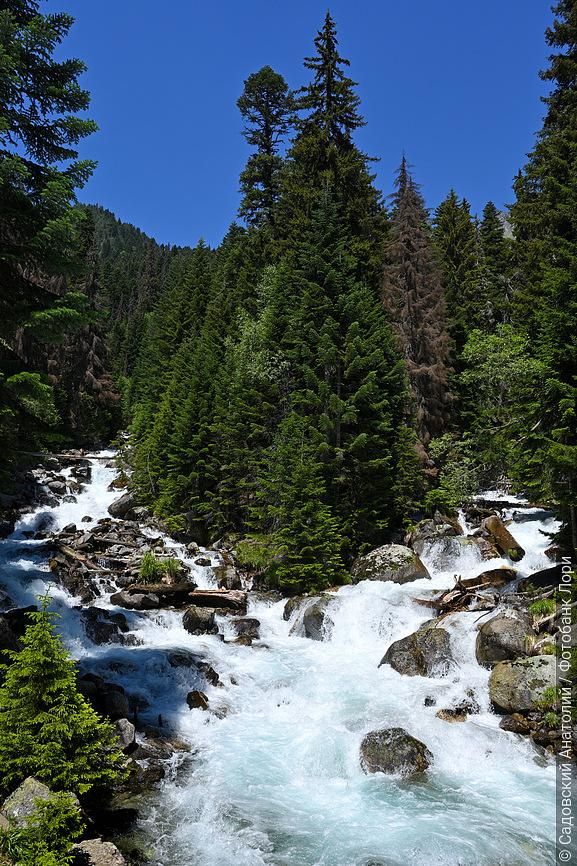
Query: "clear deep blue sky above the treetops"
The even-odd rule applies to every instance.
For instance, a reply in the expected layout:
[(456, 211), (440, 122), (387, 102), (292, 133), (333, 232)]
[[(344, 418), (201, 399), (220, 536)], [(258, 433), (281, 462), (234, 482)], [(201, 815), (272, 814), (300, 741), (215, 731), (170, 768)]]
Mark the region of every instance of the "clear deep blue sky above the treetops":
[[(88, 65), (82, 143), (99, 162), (81, 193), (162, 242), (217, 244), (235, 216), (247, 149), (236, 99), (265, 64), (306, 80), (326, 0), (48, 0), (76, 18), (69, 56)], [(480, 211), (511, 201), (539, 129), (547, 0), (332, 0), (341, 53), (389, 194), (403, 150), (430, 207), (451, 186)]]

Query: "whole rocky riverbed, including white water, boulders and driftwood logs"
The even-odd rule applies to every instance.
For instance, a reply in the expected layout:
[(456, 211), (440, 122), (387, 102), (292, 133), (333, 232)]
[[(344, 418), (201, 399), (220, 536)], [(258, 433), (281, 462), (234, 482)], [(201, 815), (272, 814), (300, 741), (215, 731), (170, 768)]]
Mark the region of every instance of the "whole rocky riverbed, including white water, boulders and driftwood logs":
[(4, 502), (0, 550), (0, 649), (50, 585), (80, 687), (117, 725), (130, 779), (91, 820), (118, 857), (494, 866), (494, 825), (500, 863), (544, 866), (556, 624), (530, 606), (555, 585), (554, 515), (485, 496), (287, 601), (251, 589), (231, 544), (172, 541), (123, 483), (111, 453), (49, 458), (36, 507)]

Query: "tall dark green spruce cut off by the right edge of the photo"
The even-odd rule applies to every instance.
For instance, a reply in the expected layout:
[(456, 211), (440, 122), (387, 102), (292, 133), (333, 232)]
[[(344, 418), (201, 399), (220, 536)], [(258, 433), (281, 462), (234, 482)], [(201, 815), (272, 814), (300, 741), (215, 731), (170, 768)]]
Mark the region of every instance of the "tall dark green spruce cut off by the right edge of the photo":
[[(577, 2), (561, 0), (546, 31), (552, 48), (541, 77), (551, 83), (543, 128), (514, 189), (515, 254), (523, 277), (513, 301), (539, 359), (543, 421), (527, 447), (540, 454), (542, 486), (567, 508), (577, 546)], [(533, 467), (533, 483), (537, 473)]]

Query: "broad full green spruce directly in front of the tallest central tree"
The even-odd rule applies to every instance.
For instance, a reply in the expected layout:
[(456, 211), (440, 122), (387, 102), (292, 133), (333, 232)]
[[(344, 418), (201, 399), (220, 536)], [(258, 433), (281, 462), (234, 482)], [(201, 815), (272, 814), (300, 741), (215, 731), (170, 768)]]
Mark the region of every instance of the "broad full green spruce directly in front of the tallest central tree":
[(382, 305), (339, 216), (329, 190), (285, 274), (292, 309), (281, 348), (291, 405), (324, 437), (328, 501), (355, 553), (396, 518), (392, 454), (406, 392)]

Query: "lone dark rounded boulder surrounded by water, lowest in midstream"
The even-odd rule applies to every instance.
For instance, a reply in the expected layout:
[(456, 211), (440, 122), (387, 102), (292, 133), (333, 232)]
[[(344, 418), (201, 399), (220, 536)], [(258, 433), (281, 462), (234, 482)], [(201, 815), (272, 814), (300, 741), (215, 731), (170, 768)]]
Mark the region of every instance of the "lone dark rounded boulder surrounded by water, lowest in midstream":
[(361, 743), (361, 766), (365, 773), (414, 776), (427, 770), (432, 760), (425, 744), (403, 728), (371, 731)]

